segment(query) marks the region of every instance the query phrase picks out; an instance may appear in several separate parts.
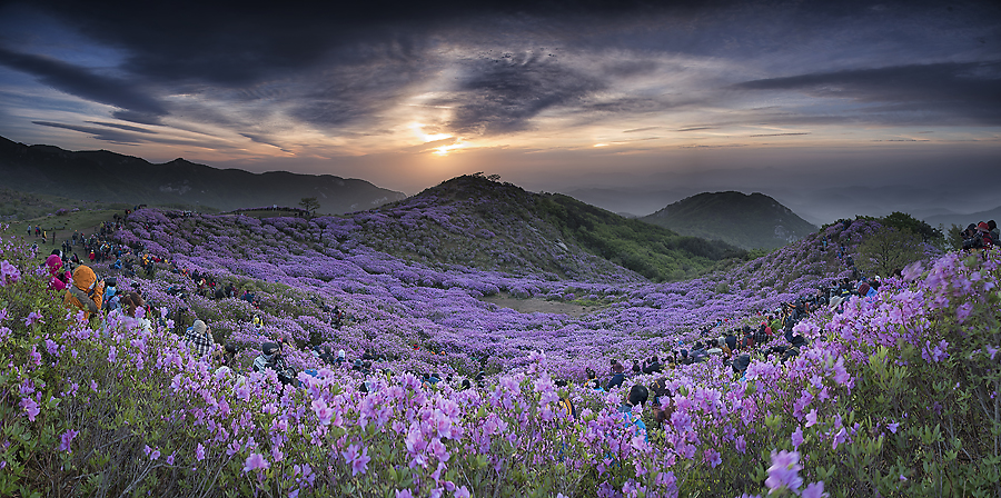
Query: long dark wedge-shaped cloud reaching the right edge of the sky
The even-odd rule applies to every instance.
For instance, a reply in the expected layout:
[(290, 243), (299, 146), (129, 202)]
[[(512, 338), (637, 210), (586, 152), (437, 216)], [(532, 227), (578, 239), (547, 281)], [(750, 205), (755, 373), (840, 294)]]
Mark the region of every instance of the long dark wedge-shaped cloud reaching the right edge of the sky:
[[(906, 64), (820, 72), (745, 81), (744, 90), (791, 90), (812, 97), (846, 99), (856, 111), (902, 124), (1001, 124), (1001, 61)], [(921, 116), (913, 116), (920, 113)]]

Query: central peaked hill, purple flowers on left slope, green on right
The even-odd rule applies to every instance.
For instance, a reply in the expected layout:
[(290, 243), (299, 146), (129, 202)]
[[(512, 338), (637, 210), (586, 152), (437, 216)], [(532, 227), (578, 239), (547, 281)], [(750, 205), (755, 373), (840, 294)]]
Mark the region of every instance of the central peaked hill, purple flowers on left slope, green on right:
[(398, 257), (551, 278), (692, 278), (746, 252), (558, 193), (463, 176), (354, 217), (359, 240)]

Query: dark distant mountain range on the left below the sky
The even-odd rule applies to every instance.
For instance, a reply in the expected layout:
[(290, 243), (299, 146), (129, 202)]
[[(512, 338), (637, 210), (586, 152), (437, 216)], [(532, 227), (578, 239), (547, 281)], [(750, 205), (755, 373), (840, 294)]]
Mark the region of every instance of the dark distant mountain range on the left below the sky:
[(175, 159), (153, 165), (107, 150), (72, 152), (0, 137), (0, 178), (13, 190), (103, 202), (211, 207), (219, 210), (298, 206), (316, 197), (318, 212), (344, 213), (406, 198), (364, 180), (285, 171), (252, 173)]

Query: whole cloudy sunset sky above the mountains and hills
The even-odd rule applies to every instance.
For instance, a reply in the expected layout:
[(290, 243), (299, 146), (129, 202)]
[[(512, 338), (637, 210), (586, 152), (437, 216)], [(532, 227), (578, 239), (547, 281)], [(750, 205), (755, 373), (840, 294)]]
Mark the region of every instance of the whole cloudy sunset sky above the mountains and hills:
[(343, 3), (2, 2), (0, 136), (635, 215), (1001, 206), (998, 2)]

